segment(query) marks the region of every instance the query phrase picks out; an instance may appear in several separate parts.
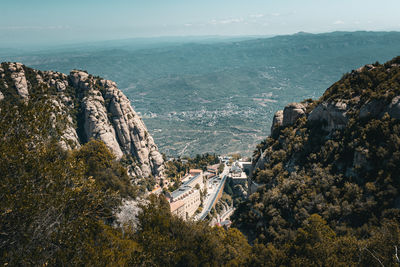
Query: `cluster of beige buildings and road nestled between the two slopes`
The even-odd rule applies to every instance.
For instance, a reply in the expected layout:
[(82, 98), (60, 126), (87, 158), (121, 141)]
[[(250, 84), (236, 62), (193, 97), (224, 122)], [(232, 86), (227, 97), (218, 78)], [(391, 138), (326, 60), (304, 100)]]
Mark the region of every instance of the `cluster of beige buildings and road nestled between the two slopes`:
[(170, 181), (165, 181), (162, 186), (157, 184), (149, 194), (163, 193), (170, 204), (171, 212), (185, 220), (207, 219), (211, 225), (229, 227), (230, 216), (235, 210), (233, 201), (223, 202), (219, 212), (215, 208), (223, 197), (227, 182), (234, 186), (240, 185), (243, 188), (242, 197), (247, 198), (251, 194), (251, 162), (232, 156), (219, 156), (218, 159), (219, 163), (208, 165), (205, 171), (189, 169), (180, 178), (181, 183), (176, 190), (165, 190), (173, 185)]

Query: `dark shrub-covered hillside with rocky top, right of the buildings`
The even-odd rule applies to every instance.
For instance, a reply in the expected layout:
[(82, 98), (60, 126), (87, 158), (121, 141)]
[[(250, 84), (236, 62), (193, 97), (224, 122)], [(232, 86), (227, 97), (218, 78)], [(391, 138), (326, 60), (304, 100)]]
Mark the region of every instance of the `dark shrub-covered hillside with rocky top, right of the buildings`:
[(234, 218), (252, 240), (310, 264), (317, 252), (300, 243), (315, 234), (305, 241), (311, 247), (334, 254), (341, 243), (359, 257), (376, 256), (373, 265), (392, 266), (400, 238), (400, 57), (347, 73), (320, 99), (276, 112), (253, 166), (253, 194)]

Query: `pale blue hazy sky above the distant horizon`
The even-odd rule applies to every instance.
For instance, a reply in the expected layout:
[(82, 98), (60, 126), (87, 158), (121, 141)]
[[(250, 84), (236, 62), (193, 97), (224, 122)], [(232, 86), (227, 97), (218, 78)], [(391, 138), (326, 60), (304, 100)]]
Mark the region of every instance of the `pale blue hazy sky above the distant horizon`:
[(400, 0), (0, 0), (0, 47), (160, 36), (400, 31)]

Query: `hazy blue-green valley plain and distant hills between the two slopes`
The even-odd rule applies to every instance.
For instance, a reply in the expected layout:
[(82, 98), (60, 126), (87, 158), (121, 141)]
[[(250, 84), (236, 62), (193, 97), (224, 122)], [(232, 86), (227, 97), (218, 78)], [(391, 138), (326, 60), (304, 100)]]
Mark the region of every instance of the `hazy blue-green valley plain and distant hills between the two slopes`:
[(399, 48), (399, 32), (298, 33), (149, 46), (108, 42), (3, 52), (0, 61), (60, 72), (85, 69), (116, 81), (168, 155), (250, 155), (269, 134), (279, 107), (318, 98), (344, 73), (387, 61)]

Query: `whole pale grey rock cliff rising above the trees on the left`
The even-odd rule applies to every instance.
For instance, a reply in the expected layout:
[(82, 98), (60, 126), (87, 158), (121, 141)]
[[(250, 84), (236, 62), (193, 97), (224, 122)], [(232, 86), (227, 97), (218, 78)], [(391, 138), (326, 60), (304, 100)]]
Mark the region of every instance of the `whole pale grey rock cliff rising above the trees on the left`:
[(90, 139), (103, 141), (117, 159), (129, 162), (135, 177), (160, 177), (164, 161), (142, 119), (128, 98), (110, 80), (84, 71), (38, 71), (20, 63), (1, 63), (0, 101), (29, 101), (43, 94), (52, 99), (67, 125), (60, 144), (79, 147)]

